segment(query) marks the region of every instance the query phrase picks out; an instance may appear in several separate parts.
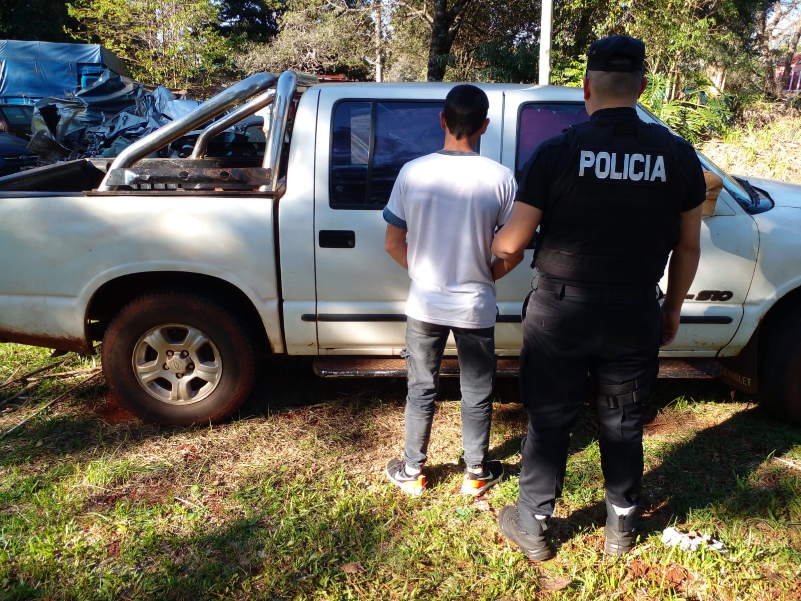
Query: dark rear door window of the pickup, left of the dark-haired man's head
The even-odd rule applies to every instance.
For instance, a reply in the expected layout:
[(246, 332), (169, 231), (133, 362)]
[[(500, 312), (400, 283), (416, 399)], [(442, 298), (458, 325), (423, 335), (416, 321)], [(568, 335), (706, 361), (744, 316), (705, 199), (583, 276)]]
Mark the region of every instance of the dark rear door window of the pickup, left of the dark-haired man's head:
[(334, 107), (329, 204), (382, 209), (404, 163), (438, 151), (442, 102), (344, 100)]

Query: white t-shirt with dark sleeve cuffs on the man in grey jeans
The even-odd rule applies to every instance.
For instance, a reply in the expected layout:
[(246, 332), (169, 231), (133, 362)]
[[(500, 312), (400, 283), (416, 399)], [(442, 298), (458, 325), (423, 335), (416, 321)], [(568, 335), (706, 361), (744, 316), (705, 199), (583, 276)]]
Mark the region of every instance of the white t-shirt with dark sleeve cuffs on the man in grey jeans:
[(457, 328), (495, 325), (490, 247), (516, 191), (512, 171), (472, 152), (438, 151), (400, 169), (384, 220), (408, 231), (407, 316)]

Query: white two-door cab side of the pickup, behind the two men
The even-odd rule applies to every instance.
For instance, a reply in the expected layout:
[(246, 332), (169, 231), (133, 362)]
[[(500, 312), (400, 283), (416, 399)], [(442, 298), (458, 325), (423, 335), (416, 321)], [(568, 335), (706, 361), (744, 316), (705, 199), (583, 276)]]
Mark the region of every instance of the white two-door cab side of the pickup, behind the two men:
[[(517, 175), (537, 144), (588, 119), (578, 88), (477, 85), (490, 102), (489, 127), (478, 151)], [(409, 278), (380, 252), (385, 227), (381, 210), (400, 167), (442, 147), (439, 112), (450, 87), (353, 84), (344, 89), (324, 84), (308, 92), (318, 97), (316, 103), (306, 104), (316, 107), (316, 115), (306, 117), (317, 124), (314, 171), (304, 166), (302, 175), (289, 172), (280, 222), (296, 221), (296, 211), (314, 212), (314, 231), (304, 236), (313, 233), (316, 242), (313, 255), (306, 257), (307, 267), (315, 269), (316, 306), (299, 307), (301, 313), (292, 317), (316, 324), (320, 354), (352, 354), (359, 349), (361, 354), (397, 356), (404, 346)], [(641, 116), (654, 120), (644, 110)], [(299, 164), (290, 161), (290, 169)], [(664, 349), (664, 357), (715, 357), (730, 343), (743, 318), (759, 236), (736, 200), (735, 194), (742, 193), (739, 184), (723, 175), (726, 184), (718, 206), (703, 220), (704, 260), (694, 282), (698, 296), (688, 299), (682, 309), (683, 322), (693, 327), (679, 331), (676, 341)], [(294, 188), (297, 183), (301, 188)], [(284, 218), (285, 213), (292, 217)], [(281, 240), (282, 246), (290, 244)], [(519, 353), (521, 302), (536, 280), (536, 272), (527, 268), (532, 253), (527, 250), (523, 264), (497, 284), (496, 347), (501, 356)], [(299, 258), (284, 248), (281, 256), (282, 261)], [(359, 267), (343, 270), (343, 265)], [(282, 272), (287, 267), (282, 264)], [(661, 284), (664, 289), (666, 279)], [(713, 293), (702, 291), (719, 293), (711, 300)], [(284, 294), (292, 292), (284, 281)]]

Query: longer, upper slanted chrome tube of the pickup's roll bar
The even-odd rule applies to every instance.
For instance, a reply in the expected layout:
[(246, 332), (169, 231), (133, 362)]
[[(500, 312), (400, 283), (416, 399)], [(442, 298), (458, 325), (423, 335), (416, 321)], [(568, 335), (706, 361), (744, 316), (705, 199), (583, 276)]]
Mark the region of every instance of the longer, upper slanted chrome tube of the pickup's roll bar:
[(131, 165), (139, 159), (143, 159), (151, 154), (151, 152), (157, 151), (168, 143), (174, 142), (188, 131), (197, 129), (203, 125), (203, 123), (219, 115), (219, 113), (275, 85), (275, 75), (270, 73), (251, 75), (248, 79), (243, 79), (241, 82), (235, 83), (211, 100), (201, 104), (195, 111), (189, 113), (189, 115), (184, 115), (180, 119), (176, 119), (164, 127), (159, 127), (159, 129), (146, 135), (143, 139), (137, 140), (135, 143), (132, 143), (131, 146), (120, 152), (117, 158), (114, 159), (114, 162), (111, 163), (111, 167), (108, 168), (106, 176), (98, 186), (98, 190), (100, 192), (107, 192), (113, 188), (107, 184), (107, 181), (111, 172), (115, 169), (131, 167)]

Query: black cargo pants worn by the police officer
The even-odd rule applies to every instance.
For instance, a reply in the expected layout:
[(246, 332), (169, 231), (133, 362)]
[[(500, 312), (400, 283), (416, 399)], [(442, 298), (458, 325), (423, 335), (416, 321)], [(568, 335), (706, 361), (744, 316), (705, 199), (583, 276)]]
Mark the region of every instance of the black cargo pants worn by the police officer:
[(529, 429), (521, 445), (518, 509), (553, 513), (588, 373), (606, 495), (619, 507), (639, 502), (642, 401), (658, 373), (661, 337), (655, 285), (594, 289), (541, 277), (523, 321), (520, 385)]

